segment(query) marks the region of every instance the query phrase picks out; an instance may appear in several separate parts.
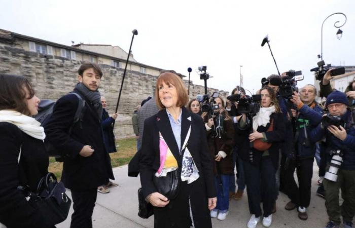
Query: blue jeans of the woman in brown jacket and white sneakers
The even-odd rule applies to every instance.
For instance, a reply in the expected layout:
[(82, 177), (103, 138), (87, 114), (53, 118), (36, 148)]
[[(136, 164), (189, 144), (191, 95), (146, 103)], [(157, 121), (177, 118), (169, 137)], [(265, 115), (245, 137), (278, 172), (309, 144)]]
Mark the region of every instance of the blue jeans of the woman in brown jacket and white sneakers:
[[(226, 213), (229, 209), (229, 181), (230, 176), (221, 174), (215, 177), (217, 189), (217, 206), (214, 211), (219, 210), (220, 213)], [(222, 183), (222, 184), (221, 184)]]

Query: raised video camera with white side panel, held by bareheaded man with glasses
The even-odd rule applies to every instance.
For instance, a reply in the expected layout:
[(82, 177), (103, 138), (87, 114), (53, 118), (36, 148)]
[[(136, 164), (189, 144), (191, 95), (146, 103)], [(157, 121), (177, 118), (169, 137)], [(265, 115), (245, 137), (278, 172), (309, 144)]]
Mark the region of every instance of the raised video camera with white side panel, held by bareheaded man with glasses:
[(278, 89), (280, 96), (291, 99), (293, 92), (298, 92), (296, 87), (298, 81), (303, 80), (302, 71), (289, 70), (286, 72), (286, 76), (281, 77), (281, 85)]

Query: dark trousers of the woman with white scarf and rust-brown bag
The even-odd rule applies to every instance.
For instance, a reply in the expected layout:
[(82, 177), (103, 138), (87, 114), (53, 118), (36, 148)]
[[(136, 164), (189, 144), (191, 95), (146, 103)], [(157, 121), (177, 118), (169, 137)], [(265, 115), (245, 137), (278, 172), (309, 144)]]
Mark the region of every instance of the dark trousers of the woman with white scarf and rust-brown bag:
[(263, 216), (267, 217), (276, 200), (276, 169), (268, 156), (263, 157), (257, 166), (249, 162), (244, 162), (243, 165), (250, 213), (256, 217), (261, 216), (260, 203), (263, 202)]

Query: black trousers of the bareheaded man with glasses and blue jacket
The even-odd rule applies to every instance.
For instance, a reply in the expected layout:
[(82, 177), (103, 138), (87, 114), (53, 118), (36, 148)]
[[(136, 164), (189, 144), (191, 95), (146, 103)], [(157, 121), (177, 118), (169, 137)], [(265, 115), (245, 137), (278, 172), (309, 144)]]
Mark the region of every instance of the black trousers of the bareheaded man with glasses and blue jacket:
[[(282, 161), (285, 162), (285, 161)], [(292, 203), (307, 208), (311, 197), (314, 158), (291, 160), (283, 172), (283, 185)], [(297, 173), (298, 186), (294, 177)]]

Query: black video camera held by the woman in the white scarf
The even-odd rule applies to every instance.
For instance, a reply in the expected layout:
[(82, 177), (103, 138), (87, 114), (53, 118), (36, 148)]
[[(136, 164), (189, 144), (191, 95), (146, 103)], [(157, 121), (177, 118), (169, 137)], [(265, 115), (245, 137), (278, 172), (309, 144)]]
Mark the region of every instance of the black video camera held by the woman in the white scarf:
[(238, 102), (237, 111), (240, 114), (254, 115), (260, 110), (261, 94), (252, 96), (234, 94), (228, 96), (227, 99), (231, 102)]

